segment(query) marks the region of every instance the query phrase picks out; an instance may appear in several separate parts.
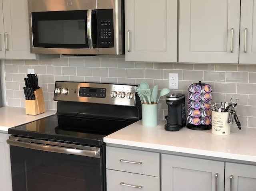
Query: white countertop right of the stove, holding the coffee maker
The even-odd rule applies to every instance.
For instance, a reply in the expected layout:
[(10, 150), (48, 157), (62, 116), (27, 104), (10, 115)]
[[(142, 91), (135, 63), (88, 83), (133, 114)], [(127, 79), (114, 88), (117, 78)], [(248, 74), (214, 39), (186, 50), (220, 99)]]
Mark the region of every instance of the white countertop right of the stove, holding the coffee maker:
[(142, 120), (104, 138), (104, 142), (186, 154), (256, 162), (256, 128), (231, 127), (230, 135), (219, 136), (211, 130), (164, 130), (166, 120), (158, 126), (142, 126)]

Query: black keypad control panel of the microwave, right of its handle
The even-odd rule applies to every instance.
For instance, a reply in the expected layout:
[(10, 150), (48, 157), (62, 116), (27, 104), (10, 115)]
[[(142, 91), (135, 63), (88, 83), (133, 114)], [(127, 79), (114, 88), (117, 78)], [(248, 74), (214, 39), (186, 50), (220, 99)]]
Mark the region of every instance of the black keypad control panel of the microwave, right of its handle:
[(113, 10), (98, 9), (98, 48), (114, 47), (113, 26)]

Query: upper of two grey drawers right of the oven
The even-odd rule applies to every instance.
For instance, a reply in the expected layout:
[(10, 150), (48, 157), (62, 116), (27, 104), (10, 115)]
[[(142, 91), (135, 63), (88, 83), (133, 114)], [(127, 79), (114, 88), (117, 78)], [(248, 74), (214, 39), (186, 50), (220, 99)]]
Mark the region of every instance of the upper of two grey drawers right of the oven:
[(106, 147), (106, 168), (159, 177), (160, 154)]

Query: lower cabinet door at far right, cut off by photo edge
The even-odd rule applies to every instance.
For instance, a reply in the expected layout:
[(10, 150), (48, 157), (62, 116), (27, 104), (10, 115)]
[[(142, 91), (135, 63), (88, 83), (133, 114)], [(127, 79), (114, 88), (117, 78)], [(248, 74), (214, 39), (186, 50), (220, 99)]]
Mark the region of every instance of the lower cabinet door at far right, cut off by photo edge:
[[(255, 191), (255, 172), (256, 166), (226, 162), (225, 190)], [(230, 185), (232, 188), (230, 188)]]

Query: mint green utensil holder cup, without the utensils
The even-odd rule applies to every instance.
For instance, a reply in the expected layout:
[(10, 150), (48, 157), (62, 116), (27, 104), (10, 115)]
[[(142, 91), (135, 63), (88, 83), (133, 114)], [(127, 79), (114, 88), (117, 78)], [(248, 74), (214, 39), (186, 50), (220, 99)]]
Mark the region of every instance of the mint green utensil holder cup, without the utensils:
[(142, 104), (142, 125), (157, 126), (158, 104)]

